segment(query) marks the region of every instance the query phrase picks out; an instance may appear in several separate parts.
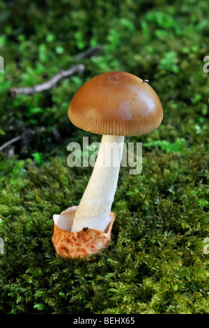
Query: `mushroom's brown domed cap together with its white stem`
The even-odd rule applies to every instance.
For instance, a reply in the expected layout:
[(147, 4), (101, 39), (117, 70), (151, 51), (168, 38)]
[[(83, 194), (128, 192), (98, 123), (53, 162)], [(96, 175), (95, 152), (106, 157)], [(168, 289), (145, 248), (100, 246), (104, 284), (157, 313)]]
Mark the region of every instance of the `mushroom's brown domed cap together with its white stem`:
[(91, 178), (71, 220), (71, 234), (85, 234), (83, 229), (88, 228), (88, 232), (99, 231), (110, 239), (109, 228), (115, 218), (111, 205), (124, 137), (150, 133), (163, 118), (160, 99), (145, 81), (125, 72), (103, 73), (86, 82), (72, 97), (68, 108), (70, 121), (78, 128), (102, 135), (102, 142)]

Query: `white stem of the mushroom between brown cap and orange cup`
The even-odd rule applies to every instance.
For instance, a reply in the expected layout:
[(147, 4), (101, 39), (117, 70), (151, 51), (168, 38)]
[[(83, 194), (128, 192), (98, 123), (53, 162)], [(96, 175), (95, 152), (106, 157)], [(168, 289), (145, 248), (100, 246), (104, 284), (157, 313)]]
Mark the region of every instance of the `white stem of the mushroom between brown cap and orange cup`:
[(85, 227), (104, 232), (111, 221), (109, 214), (116, 193), (123, 142), (123, 136), (102, 136), (97, 161), (75, 213), (72, 232)]

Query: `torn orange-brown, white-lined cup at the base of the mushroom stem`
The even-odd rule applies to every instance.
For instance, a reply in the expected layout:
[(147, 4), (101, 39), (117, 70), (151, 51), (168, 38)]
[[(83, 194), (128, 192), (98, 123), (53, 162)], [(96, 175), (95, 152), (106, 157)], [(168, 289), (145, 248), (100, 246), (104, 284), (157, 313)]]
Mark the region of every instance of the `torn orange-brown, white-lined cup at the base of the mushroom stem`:
[(111, 229), (116, 217), (114, 212), (110, 212), (111, 221), (104, 232), (91, 228), (88, 229), (88, 227), (83, 228), (79, 232), (64, 230), (63, 226), (66, 226), (68, 218), (69, 221), (73, 221), (76, 210), (77, 207), (75, 206), (65, 209), (59, 216), (59, 223), (55, 222), (57, 220), (55, 215), (53, 216), (54, 234), (52, 236), (52, 243), (54, 244), (56, 253), (61, 257), (84, 258), (86, 255), (100, 253), (100, 249), (107, 248), (111, 239)]

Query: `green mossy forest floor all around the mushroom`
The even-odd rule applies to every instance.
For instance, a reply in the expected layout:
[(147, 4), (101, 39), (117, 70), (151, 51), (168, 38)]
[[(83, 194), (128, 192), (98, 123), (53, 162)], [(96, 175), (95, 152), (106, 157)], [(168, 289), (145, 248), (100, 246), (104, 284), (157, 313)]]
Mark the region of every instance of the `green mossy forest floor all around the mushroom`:
[[(21, 0), (0, 8), (0, 144), (22, 137), (13, 156), (0, 154), (0, 313), (209, 313), (207, 2)], [(100, 54), (78, 59), (96, 45)], [(78, 62), (84, 73), (49, 91), (9, 95)], [(52, 216), (79, 204), (92, 172), (68, 167), (67, 144), (100, 141), (70, 124), (68, 105), (109, 70), (148, 79), (164, 120), (126, 138), (143, 142), (143, 167), (136, 175), (121, 167), (109, 248), (59, 258)]]

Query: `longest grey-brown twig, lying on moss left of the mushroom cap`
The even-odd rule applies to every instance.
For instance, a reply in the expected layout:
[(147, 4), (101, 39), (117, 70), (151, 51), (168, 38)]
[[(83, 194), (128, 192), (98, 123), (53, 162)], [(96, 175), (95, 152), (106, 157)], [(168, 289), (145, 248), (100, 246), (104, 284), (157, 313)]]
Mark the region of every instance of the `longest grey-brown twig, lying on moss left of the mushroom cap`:
[(34, 85), (33, 87), (20, 87), (20, 88), (11, 88), (10, 96), (15, 97), (19, 94), (37, 94), (39, 92), (52, 89), (54, 85), (62, 80), (65, 77), (70, 77), (77, 73), (83, 73), (85, 70), (85, 66), (83, 64), (77, 64), (70, 67), (69, 70), (61, 70), (59, 73), (56, 73), (50, 80), (44, 82), (42, 84)]

